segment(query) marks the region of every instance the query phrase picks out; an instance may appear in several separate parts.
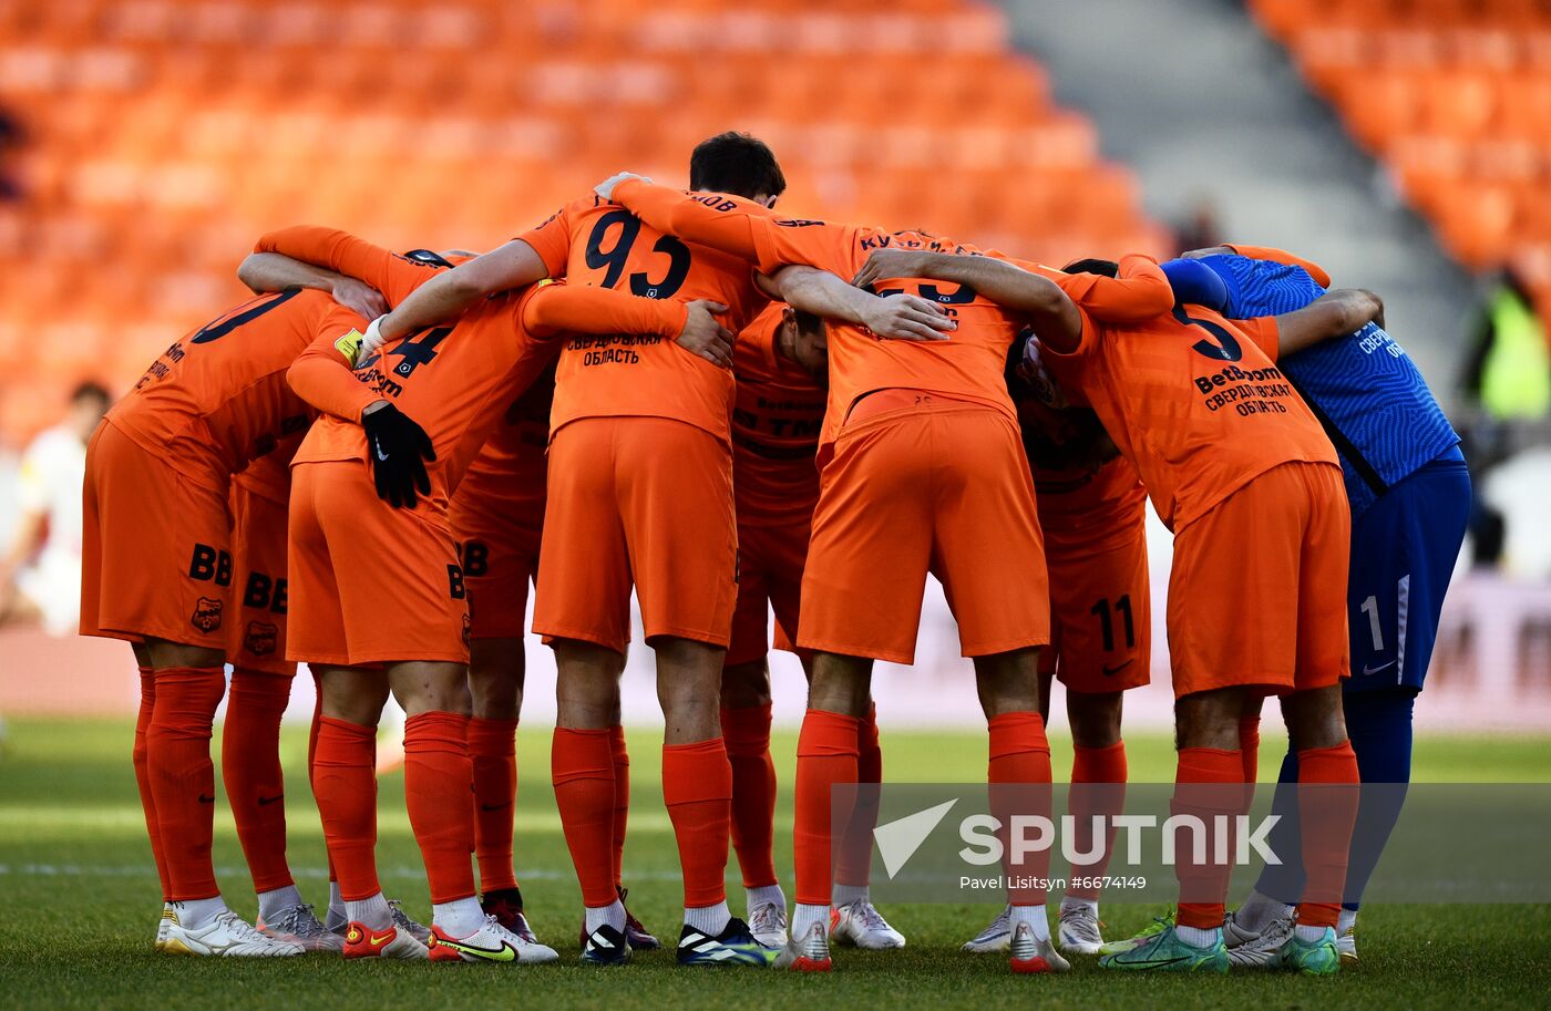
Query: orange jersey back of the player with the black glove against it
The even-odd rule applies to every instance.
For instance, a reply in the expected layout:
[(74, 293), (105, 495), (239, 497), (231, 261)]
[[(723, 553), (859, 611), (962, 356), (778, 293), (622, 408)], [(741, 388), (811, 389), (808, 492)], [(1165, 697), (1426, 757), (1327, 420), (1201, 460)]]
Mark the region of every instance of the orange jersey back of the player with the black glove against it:
[[(436, 461), (427, 465), (433, 498), (445, 510), (470, 461), (501, 422), (513, 397), (527, 389), (551, 358), (521, 324), (526, 301), (540, 285), (489, 298), (456, 321), (411, 333), (355, 364), (355, 378), (414, 419), (431, 437)], [(333, 341), (360, 326), (340, 309), (318, 330), (309, 355), (327, 355)], [(296, 462), (366, 459), (360, 425), (320, 419)]]

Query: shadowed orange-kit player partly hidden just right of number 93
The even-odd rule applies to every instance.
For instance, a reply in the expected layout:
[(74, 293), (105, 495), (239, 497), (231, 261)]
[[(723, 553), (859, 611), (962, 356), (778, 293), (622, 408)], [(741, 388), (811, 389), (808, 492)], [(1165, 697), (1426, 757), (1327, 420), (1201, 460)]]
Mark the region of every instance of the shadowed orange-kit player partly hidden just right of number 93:
[[(828, 360), (824, 321), (772, 302), (734, 347), (732, 485), (738, 518), (738, 599), (721, 673), (721, 730), (732, 763), (732, 845), (748, 892), (749, 927), (772, 947), (786, 943), (786, 896), (772, 854), (776, 766), (771, 760), (771, 648), (796, 650), (802, 571), (819, 499), (814, 456), (824, 426)], [(808, 671), (808, 653), (797, 651)], [(876, 709), (861, 723), (859, 775), (883, 778)], [(833, 929), (858, 947), (900, 947), (904, 937), (867, 896), (876, 809), (858, 809), (834, 870)], [(872, 819), (872, 820), (869, 820)]]

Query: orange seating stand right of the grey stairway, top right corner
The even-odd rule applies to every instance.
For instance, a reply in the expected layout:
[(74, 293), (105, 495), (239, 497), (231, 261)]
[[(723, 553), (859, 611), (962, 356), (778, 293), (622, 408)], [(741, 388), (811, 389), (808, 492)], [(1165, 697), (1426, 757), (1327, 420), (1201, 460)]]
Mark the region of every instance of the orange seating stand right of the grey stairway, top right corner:
[(1551, 313), (1551, 3), (1252, 0), (1444, 247)]

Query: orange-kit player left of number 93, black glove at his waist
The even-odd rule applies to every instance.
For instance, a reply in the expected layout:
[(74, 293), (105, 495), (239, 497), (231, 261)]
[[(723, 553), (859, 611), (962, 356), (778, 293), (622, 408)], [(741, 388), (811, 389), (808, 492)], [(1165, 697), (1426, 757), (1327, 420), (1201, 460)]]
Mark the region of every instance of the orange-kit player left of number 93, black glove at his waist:
[[(347, 237), (298, 231), (273, 248), (343, 268)], [(552, 949), (501, 927), (475, 898), (470, 617), (448, 498), (506, 405), (552, 360), (544, 336), (636, 333), (703, 344), (724, 333), (703, 304), (565, 285), (487, 299), (454, 326), (360, 361), (357, 323), (364, 326), (333, 313), (290, 369), (292, 386), (324, 412), (293, 465), (288, 653), (323, 668), (315, 786), (351, 918), (344, 954), (427, 954), (394, 929), (375, 873), (372, 740), (386, 679), (408, 713), (405, 789), (434, 906), (430, 957), (551, 961)], [(377, 501), (371, 482), (396, 509)], [(405, 564), (385, 575), (374, 563), (382, 557)]]

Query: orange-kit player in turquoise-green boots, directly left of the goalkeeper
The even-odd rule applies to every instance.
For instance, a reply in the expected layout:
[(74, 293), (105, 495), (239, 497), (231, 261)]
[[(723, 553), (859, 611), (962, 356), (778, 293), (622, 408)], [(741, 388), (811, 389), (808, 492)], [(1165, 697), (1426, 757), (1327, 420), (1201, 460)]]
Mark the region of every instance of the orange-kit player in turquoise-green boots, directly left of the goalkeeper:
[[(1078, 267), (1117, 271), (1103, 261)], [(1276, 961), (1304, 974), (1337, 972), (1334, 927), (1357, 813), (1357, 760), (1340, 695), (1349, 673), (1351, 519), (1335, 451), (1273, 361), (1362, 327), (1382, 304), (1345, 290), (1275, 318), (1228, 321), (1180, 305), (1142, 324), (1098, 326), (1050, 281), (1008, 264), (940, 257), (920, 268), (974, 284), (1031, 316), (1050, 369), (1098, 414), (1174, 530), (1176, 813), (1211, 825), (1213, 816), (1241, 811), (1249, 778), (1241, 721), (1258, 713), (1266, 693), (1281, 696), (1298, 782), (1318, 786), (1300, 797), (1307, 885)], [(1255, 633), (1224, 634), (1224, 622)], [(1117, 946), (1101, 964), (1227, 972), (1230, 870), (1180, 864), (1176, 923)]]

